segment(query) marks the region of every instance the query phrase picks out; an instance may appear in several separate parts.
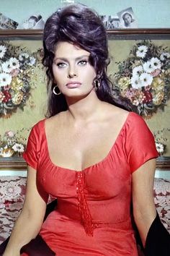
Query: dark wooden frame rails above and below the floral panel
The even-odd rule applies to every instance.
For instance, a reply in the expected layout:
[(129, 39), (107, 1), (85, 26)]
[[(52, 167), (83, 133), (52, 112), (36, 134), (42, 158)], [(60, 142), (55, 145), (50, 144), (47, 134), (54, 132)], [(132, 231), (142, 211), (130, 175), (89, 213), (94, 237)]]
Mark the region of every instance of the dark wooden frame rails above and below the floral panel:
[[(170, 29), (116, 29), (107, 35), (109, 40), (170, 40)], [(0, 30), (0, 40), (42, 40), (42, 30)], [(26, 168), (22, 157), (0, 158), (0, 171)], [(157, 158), (156, 168), (170, 171), (170, 155)]]

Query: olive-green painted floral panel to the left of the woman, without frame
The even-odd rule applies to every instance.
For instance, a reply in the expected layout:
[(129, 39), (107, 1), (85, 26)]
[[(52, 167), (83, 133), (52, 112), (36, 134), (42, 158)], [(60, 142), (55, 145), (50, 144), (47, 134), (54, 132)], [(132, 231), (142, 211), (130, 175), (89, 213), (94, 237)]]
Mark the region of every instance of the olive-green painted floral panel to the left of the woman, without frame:
[(45, 118), (41, 40), (0, 40), (0, 158), (22, 156), (30, 129)]

